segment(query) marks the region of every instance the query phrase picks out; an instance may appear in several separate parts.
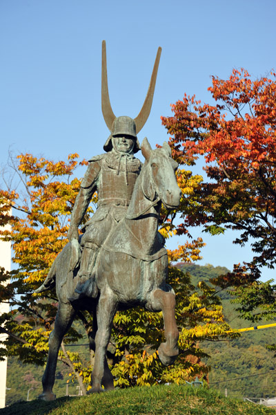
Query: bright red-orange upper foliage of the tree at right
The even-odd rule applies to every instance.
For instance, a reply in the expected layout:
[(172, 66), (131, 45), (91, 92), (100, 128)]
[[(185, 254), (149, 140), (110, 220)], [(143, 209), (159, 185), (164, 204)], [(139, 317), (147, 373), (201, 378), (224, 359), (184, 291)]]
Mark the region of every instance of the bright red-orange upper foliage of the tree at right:
[[(275, 80), (263, 77), (253, 82), (247, 71), (234, 69), (228, 80), (213, 77), (209, 91), (221, 104), (199, 105), (194, 96), (185, 95), (172, 105), (173, 117), (161, 118), (175, 136), (171, 143), (177, 160), (186, 163), (204, 154), (208, 163), (227, 162), (231, 168), (239, 165), (249, 172), (259, 163), (276, 161)], [(186, 151), (180, 151), (179, 144)]]

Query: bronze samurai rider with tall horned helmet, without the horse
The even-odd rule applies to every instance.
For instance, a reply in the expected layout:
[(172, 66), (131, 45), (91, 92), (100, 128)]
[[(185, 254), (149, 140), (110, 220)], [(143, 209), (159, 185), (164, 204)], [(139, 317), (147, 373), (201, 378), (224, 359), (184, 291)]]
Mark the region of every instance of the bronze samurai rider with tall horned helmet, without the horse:
[[(106, 43), (103, 41), (101, 108), (110, 136), (103, 145), (106, 153), (89, 160), (88, 169), (72, 210), (68, 239), (72, 242), (72, 246), (75, 246), (75, 252), (76, 250), (79, 252), (77, 255), (72, 255), (71, 259), (72, 270), (79, 268), (77, 276), (80, 282), (76, 288), (76, 297), (84, 295), (97, 297), (95, 265), (99, 248), (108, 237), (110, 230), (125, 216), (130, 203), (135, 181), (141, 170), (141, 162), (134, 156), (140, 149), (137, 133), (144, 127), (150, 114), (160, 55), (161, 48), (157, 51), (146, 100), (137, 118), (133, 120), (127, 116), (116, 117), (108, 94)], [(83, 235), (79, 237), (79, 225), (96, 190), (97, 211), (83, 225), (81, 229)], [(80, 264), (79, 257), (81, 257)]]

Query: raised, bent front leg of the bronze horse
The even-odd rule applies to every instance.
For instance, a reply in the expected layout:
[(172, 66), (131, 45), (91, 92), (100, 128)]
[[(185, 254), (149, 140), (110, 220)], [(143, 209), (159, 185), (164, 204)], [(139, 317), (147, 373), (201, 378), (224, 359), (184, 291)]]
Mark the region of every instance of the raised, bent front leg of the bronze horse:
[(160, 344), (158, 354), (163, 365), (172, 365), (179, 354), (177, 346), (179, 331), (175, 320), (175, 294), (158, 288), (152, 292), (148, 305), (152, 311), (162, 311), (163, 313), (166, 342)]

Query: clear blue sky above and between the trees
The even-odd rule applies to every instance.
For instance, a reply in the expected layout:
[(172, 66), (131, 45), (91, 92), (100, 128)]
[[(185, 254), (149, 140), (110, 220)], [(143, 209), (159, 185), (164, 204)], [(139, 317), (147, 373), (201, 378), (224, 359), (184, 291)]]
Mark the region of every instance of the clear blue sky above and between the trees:
[[(55, 160), (103, 152), (103, 39), (116, 116), (137, 116), (163, 49), (152, 111), (139, 133), (154, 146), (168, 138), (160, 116), (170, 115), (171, 103), (185, 92), (210, 102), (210, 75), (244, 67), (259, 77), (276, 69), (275, 15), (275, 0), (1, 0), (0, 163), (10, 146)], [(203, 236), (202, 264), (232, 268), (252, 256), (250, 246), (233, 246), (230, 233)]]

